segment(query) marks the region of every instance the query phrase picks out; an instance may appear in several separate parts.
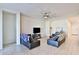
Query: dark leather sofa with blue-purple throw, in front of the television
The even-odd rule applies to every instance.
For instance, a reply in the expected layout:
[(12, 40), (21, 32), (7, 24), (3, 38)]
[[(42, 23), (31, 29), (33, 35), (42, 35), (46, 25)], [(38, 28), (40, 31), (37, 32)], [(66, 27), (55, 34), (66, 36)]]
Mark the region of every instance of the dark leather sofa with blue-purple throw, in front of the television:
[(29, 49), (40, 46), (40, 40), (33, 39), (31, 35), (29, 36), (26, 34), (21, 34), (20, 43), (28, 47)]

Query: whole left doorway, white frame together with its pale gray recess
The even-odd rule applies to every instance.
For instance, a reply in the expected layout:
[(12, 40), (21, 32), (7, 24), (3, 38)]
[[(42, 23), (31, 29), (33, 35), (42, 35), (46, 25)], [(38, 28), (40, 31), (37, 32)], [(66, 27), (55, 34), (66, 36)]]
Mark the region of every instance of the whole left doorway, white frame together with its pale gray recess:
[(20, 12), (0, 10), (0, 29), (0, 49), (10, 43), (20, 45)]

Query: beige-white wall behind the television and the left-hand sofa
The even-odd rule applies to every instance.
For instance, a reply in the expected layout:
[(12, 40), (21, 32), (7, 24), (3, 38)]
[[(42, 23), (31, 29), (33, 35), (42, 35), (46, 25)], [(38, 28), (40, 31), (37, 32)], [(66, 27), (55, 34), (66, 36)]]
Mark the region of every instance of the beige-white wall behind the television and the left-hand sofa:
[(41, 28), (41, 21), (32, 17), (21, 15), (21, 33), (33, 34), (33, 27)]

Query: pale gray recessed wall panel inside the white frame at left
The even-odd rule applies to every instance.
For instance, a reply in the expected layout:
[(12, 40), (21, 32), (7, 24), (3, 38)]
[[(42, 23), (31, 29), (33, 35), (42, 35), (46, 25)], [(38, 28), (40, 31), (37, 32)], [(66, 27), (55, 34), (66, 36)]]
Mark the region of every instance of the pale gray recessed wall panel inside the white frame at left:
[(3, 44), (16, 42), (16, 15), (3, 12)]

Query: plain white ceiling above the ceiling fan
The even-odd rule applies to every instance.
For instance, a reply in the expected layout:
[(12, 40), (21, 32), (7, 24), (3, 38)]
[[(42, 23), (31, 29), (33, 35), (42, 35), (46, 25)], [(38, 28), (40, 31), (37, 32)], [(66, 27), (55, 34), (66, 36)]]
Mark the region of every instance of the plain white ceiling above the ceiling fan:
[(79, 13), (78, 3), (4, 3), (0, 4), (0, 8), (20, 11), (23, 14), (34, 17), (39, 17), (44, 11), (50, 11), (52, 14), (56, 13), (56, 16), (63, 16), (74, 12)]

